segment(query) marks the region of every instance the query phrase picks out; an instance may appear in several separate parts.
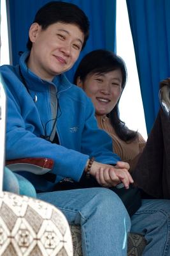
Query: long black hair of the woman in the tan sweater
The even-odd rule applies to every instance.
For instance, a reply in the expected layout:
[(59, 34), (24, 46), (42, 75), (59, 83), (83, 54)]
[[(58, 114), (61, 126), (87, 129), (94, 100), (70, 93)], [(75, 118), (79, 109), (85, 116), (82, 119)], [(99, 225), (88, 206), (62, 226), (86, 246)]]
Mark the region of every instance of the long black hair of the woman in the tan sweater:
[[(122, 60), (122, 58), (111, 51), (100, 49), (89, 52), (89, 54), (83, 57), (83, 59), (80, 61), (80, 64), (78, 65), (78, 68), (76, 69), (74, 74), (74, 84), (76, 84), (78, 77), (80, 77), (80, 80), (84, 82), (87, 75), (89, 74), (104, 74), (117, 69), (121, 70), (122, 72), (123, 92), (127, 81), (127, 68), (125, 66), (124, 60)], [(134, 140), (136, 139), (137, 132), (130, 130), (125, 125), (125, 122), (120, 120), (118, 102), (115, 105), (115, 108), (113, 108), (107, 116), (110, 118), (111, 125), (121, 140)]]

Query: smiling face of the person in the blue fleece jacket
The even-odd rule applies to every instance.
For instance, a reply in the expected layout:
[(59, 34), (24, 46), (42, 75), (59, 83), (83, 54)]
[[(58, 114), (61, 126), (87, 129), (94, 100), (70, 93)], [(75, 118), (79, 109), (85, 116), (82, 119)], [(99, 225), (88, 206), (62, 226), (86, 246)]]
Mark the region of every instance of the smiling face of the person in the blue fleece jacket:
[(69, 70), (78, 59), (83, 45), (83, 32), (74, 24), (54, 23), (41, 29), (32, 24), (29, 37), (32, 42), (28, 67), (41, 79), (53, 77)]

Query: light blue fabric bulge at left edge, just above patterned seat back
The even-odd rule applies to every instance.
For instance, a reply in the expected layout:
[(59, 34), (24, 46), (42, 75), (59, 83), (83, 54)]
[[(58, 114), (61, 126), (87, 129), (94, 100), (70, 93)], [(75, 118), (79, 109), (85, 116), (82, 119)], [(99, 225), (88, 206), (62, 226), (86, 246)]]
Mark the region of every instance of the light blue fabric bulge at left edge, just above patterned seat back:
[(36, 198), (36, 190), (31, 182), (8, 168), (4, 169), (3, 190)]

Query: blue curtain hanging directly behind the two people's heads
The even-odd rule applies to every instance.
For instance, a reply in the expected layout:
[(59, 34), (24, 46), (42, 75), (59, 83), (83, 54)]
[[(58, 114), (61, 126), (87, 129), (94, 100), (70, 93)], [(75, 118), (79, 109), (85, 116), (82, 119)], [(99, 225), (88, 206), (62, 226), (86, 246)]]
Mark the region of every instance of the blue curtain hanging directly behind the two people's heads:
[[(48, 2), (49, 0), (8, 0), (13, 65), (18, 63), (18, 52), (26, 49), (29, 26), (35, 13)], [(65, 2), (78, 5), (90, 20), (90, 37), (87, 45), (81, 52), (76, 65), (67, 72), (67, 77), (72, 81), (78, 62), (87, 52), (101, 48), (115, 51), (116, 0), (68, 0)]]

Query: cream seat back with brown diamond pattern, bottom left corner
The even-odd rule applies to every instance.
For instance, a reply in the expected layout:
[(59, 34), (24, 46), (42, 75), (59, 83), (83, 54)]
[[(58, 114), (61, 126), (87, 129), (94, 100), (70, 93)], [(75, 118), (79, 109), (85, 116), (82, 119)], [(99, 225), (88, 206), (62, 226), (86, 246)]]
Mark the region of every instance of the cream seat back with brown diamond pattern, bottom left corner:
[(1, 256), (73, 256), (65, 216), (41, 200), (0, 193)]

